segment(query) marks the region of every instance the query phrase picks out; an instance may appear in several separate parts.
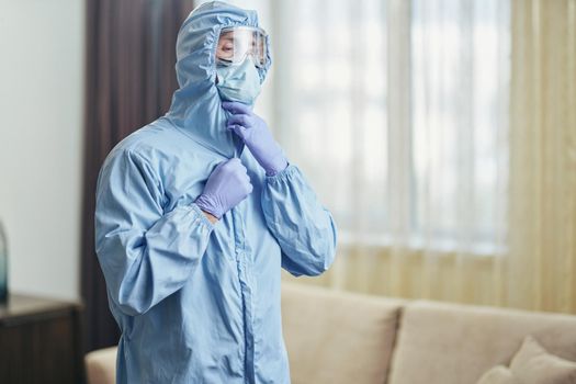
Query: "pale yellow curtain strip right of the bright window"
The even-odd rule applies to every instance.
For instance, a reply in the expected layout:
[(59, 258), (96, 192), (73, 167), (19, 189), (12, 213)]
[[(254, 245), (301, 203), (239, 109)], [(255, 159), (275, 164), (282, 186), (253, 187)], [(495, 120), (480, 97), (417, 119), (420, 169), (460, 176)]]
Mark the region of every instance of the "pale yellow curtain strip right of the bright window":
[(517, 1), (506, 303), (576, 313), (576, 1)]

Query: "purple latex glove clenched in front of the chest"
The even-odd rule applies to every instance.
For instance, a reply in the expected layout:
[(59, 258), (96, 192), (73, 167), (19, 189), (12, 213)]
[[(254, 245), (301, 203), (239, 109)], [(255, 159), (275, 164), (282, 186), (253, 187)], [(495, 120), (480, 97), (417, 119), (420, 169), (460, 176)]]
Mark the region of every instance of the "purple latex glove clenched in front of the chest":
[(218, 219), (252, 192), (252, 184), (240, 159), (221, 162), (208, 177), (196, 205)]

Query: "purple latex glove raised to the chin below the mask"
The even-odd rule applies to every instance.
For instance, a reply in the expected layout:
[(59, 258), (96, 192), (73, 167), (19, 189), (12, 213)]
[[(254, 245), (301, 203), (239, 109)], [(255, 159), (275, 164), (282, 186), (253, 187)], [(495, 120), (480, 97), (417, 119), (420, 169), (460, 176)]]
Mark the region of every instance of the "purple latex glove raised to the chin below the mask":
[(230, 101), (222, 103), (222, 106), (231, 113), (227, 128), (233, 129), (244, 140), (266, 174), (274, 176), (287, 167), (282, 148), (272, 137), (266, 122), (248, 105)]

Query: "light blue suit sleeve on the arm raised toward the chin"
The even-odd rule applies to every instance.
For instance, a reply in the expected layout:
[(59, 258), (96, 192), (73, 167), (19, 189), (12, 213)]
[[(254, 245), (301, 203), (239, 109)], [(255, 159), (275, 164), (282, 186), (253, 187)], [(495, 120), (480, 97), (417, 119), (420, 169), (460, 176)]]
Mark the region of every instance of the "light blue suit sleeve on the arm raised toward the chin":
[(301, 170), (289, 165), (266, 177), (262, 211), (282, 249), (282, 268), (295, 276), (318, 275), (335, 259), (337, 228)]

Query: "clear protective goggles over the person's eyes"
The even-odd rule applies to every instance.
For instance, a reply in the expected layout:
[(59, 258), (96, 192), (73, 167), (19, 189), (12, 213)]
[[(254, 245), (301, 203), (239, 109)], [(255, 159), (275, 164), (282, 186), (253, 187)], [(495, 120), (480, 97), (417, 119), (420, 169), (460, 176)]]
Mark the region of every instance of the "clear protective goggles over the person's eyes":
[(267, 61), (267, 34), (264, 30), (252, 26), (233, 26), (221, 31), (216, 47), (216, 64), (229, 66), (242, 63), (252, 56), (255, 65), (263, 67)]

